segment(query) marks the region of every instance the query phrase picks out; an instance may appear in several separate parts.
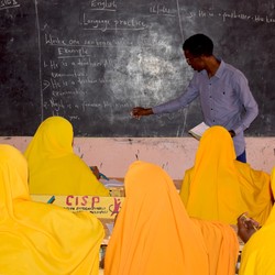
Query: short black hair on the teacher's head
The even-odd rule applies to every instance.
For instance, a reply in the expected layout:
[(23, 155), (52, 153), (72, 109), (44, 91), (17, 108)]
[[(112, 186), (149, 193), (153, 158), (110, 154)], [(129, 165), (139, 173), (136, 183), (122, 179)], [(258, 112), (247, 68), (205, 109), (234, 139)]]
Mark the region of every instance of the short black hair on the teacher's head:
[(213, 54), (213, 42), (205, 34), (198, 33), (185, 41), (183, 50), (194, 56), (210, 56)]

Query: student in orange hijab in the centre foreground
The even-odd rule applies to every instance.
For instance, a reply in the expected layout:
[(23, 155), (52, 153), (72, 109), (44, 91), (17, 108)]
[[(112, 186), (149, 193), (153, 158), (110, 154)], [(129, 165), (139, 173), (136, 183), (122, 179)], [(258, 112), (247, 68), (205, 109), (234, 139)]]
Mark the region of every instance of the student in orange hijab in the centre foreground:
[(228, 224), (190, 219), (170, 177), (134, 162), (116, 221), (105, 275), (233, 275), (239, 243)]

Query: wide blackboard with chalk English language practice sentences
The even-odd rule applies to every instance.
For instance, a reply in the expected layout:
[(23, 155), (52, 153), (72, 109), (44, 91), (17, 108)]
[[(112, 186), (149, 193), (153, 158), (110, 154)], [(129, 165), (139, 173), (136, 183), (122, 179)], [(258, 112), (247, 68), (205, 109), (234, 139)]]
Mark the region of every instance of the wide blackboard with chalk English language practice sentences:
[(241, 69), (260, 114), (246, 131), (275, 135), (275, 3), (267, 0), (0, 1), (0, 135), (33, 135), (63, 116), (76, 136), (184, 136), (199, 102), (135, 120), (185, 90), (182, 44), (209, 35), (216, 56)]

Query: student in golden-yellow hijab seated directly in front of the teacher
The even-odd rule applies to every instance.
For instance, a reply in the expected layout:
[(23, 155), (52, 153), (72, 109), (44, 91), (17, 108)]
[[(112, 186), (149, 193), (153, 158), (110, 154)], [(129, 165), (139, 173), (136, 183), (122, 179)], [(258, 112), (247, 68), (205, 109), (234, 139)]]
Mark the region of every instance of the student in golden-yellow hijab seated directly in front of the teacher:
[(204, 133), (180, 197), (189, 216), (229, 224), (245, 211), (263, 223), (272, 209), (270, 175), (235, 160), (232, 138), (222, 127)]

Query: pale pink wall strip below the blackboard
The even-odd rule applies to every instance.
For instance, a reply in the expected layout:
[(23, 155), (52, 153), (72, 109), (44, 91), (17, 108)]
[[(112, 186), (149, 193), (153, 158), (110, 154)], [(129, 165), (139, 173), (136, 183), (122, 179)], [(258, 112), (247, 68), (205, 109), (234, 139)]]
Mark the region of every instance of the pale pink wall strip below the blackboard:
[[(30, 136), (0, 136), (0, 143), (24, 152)], [(271, 173), (275, 166), (275, 138), (246, 138), (248, 163)], [(136, 158), (161, 165), (173, 179), (191, 167), (198, 141), (194, 138), (75, 138), (75, 152), (108, 177), (123, 178)]]

